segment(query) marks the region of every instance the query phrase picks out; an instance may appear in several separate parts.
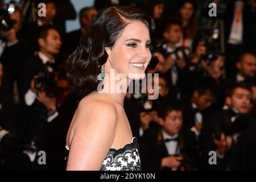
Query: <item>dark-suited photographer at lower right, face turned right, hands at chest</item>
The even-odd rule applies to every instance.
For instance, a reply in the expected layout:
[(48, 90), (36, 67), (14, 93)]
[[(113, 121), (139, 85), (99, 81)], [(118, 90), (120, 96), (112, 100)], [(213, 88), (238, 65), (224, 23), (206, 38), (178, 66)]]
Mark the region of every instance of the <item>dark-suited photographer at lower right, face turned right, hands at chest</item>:
[[(230, 88), (226, 96), (228, 109), (217, 112), (207, 119), (201, 132), (203, 149), (202, 169), (228, 170), (237, 140), (250, 121), (238, 119), (249, 114), (251, 109), (250, 89), (237, 84)], [(242, 121), (242, 122), (241, 122)], [(246, 141), (244, 141), (246, 143)], [(217, 152), (217, 165), (210, 165), (209, 151)]]

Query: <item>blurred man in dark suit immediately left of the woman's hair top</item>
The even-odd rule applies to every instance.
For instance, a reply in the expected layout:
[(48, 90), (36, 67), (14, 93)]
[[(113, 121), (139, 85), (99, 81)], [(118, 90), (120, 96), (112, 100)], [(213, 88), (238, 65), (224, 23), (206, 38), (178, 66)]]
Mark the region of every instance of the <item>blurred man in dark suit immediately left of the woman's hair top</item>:
[(85, 7), (80, 10), (79, 20), (81, 28), (79, 28), (79, 30), (69, 32), (64, 39), (64, 45), (66, 46), (64, 49), (67, 56), (69, 56), (73, 51), (75, 51), (77, 46), (79, 46), (82, 32), (86, 31), (86, 28), (88, 28), (96, 14), (97, 10), (94, 9), (94, 7)]

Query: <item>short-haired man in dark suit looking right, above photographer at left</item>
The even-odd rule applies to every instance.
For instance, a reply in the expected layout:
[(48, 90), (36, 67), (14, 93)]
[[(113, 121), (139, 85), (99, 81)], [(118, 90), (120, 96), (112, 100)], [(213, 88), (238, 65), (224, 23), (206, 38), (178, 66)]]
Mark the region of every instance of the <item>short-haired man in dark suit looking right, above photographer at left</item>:
[[(53, 72), (55, 68), (55, 56), (61, 49), (61, 38), (59, 32), (53, 26), (43, 26), (40, 28), (38, 37), (38, 53), (31, 59), (26, 61), (22, 74), (22, 95), (21, 100), (24, 100), (24, 96), (27, 93), (27, 98), (31, 98), (30, 104), (35, 100), (35, 90), (31, 90), (31, 80), (38, 75), (39, 72)], [(33, 98), (33, 99), (32, 99)]]

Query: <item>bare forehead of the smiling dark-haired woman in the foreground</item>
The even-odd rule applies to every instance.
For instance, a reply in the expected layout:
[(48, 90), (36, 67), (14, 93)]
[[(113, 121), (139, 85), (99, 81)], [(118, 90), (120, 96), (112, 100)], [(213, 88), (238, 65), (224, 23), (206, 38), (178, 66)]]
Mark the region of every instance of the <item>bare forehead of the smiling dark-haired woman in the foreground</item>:
[(147, 40), (150, 40), (150, 34), (145, 23), (136, 21), (129, 23), (125, 27), (119, 39), (139, 39), (142, 42), (146, 42)]

